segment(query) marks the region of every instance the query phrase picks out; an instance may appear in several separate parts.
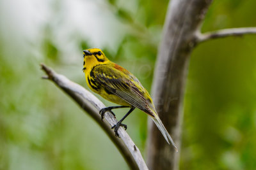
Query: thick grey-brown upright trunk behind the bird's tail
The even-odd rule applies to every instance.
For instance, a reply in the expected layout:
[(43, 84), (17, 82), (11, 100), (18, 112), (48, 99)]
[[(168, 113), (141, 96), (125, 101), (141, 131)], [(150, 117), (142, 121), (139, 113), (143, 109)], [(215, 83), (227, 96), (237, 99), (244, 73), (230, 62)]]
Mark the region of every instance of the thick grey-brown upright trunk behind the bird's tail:
[[(157, 113), (178, 150), (189, 56), (196, 43), (196, 33), (200, 31), (200, 24), (210, 4), (211, 0), (172, 0), (164, 22), (152, 93)], [(175, 152), (172, 146), (166, 143), (152, 121), (148, 126), (148, 168), (179, 169), (179, 152)]]

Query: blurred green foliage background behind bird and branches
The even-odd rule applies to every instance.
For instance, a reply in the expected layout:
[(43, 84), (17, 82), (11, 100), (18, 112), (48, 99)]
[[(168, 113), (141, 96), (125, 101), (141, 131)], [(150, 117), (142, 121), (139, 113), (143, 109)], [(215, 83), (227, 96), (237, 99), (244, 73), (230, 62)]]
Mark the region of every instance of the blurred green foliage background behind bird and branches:
[[(86, 87), (82, 52), (102, 48), (150, 90), (167, 5), (166, 0), (0, 1), (0, 169), (128, 169), (92, 118), (40, 79), (39, 64)], [(255, 6), (253, 0), (214, 1), (202, 31), (256, 26)], [(196, 47), (180, 169), (255, 169), (255, 46), (250, 35)], [(124, 111), (116, 111), (117, 117)], [(136, 110), (125, 124), (145, 153), (147, 115)]]

